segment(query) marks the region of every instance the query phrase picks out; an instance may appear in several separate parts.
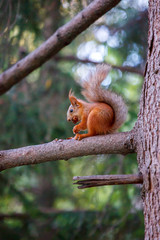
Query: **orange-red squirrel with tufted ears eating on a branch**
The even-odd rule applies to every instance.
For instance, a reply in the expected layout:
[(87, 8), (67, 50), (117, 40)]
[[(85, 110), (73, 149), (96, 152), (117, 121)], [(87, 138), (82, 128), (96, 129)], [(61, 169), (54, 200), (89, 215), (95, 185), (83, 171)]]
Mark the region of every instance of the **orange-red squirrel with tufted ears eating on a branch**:
[[(67, 111), (67, 121), (74, 124), (73, 133), (76, 140), (95, 135), (114, 133), (124, 123), (127, 106), (121, 96), (101, 88), (111, 67), (105, 64), (96, 66), (88, 81), (82, 82), (82, 95), (88, 102), (77, 99), (72, 90), (69, 91), (71, 105)], [(80, 131), (88, 133), (80, 134)]]

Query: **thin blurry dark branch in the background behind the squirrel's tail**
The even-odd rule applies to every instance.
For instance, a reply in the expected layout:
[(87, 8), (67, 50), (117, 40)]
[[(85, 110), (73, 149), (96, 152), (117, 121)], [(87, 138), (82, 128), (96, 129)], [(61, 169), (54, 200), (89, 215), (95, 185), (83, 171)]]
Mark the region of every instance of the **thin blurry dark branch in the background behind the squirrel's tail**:
[[(75, 62), (81, 62), (81, 63), (92, 63), (92, 64), (99, 64), (102, 62), (96, 62), (96, 61), (91, 61), (89, 59), (80, 59), (77, 58), (75, 56), (55, 56), (54, 57), (55, 60), (61, 60), (61, 61), (75, 61)], [(143, 76), (143, 70), (135, 68), (135, 67), (129, 67), (129, 66), (118, 66), (118, 65), (111, 65), (107, 62), (103, 62), (106, 63), (107, 65), (110, 65), (112, 68), (114, 69), (119, 69), (122, 72), (131, 72), (131, 73), (136, 73), (139, 74), (141, 76)]]

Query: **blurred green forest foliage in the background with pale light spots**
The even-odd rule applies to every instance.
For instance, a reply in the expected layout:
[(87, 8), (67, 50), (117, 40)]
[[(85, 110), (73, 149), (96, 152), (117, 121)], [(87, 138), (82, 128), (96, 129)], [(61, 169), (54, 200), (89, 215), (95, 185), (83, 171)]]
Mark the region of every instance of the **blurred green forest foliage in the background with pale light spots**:
[[(0, 3), (0, 72), (36, 49), (68, 21), (69, 14), (74, 15), (87, 4), (60, 4), (58, 0), (6, 2), (8, 5), (5, 1)], [(10, 25), (6, 25), (9, 6), (12, 15)], [(64, 48), (60, 56), (143, 67), (147, 47), (145, 11), (139, 1), (122, 1)], [(53, 58), (2, 96), (1, 149), (73, 136), (73, 125), (66, 121), (68, 92), (72, 88), (81, 97), (77, 83), (92, 67), (89, 63)], [(121, 94), (128, 105), (128, 118), (121, 131), (131, 130), (137, 118), (143, 79), (137, 74), (112, 70), (107, 81), (109, 88)], [(0, 175), (0, 239), (141, 240), (139, 187), (78, 190), (72, 184), (72, 177), (78, 175), (136, 172), (133, 154), (88, 156), (4, 171)], [(19, 216), (13, 216), (14, 213)]]

